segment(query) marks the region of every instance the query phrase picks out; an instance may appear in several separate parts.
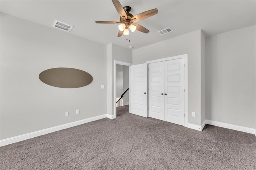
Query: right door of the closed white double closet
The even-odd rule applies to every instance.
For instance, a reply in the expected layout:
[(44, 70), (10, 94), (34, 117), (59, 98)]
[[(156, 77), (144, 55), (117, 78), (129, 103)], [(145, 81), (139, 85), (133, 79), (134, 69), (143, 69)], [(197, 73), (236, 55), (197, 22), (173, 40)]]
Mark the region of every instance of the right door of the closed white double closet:
[(184, 126), (184, 59), (164, 62), (164, 121)]

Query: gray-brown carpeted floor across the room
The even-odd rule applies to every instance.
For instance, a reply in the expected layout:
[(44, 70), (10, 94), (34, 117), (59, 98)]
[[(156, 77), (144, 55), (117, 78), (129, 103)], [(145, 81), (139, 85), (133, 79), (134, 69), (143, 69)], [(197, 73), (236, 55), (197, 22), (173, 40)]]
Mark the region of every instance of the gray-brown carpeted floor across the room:
[(1, 170), (256, 170), (256, 137), (128, 113), (0, 147)]

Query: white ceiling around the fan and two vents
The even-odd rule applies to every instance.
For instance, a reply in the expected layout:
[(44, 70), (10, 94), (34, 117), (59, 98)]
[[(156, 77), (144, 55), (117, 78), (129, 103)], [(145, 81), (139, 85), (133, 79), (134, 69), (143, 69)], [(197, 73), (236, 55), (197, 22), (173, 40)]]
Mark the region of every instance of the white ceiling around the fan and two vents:
[[(114, 43), (125, 48), (144, 47), (178, 35), (202, 29), (206, 36), (255, 25), (255, 0), (120, 0), (122, 6), (132, 7), (134, 16), (158, 9), (158, 14), (136, 23), (146, 27), (140, 31), (117, 37), (118, 24), (98, 24), (95, 21), (119, 20), (111, 0), (1, 0), (0, 10), (6, 14), (52, 27), (55, 20), (73, 25), (68, 34), (102, 44)], [(158, 31), (171, 27), (165, 35)], [(59, 29), (58, 29), (59, 30)], [(59, 30), (62, 31), (62, 30)]]

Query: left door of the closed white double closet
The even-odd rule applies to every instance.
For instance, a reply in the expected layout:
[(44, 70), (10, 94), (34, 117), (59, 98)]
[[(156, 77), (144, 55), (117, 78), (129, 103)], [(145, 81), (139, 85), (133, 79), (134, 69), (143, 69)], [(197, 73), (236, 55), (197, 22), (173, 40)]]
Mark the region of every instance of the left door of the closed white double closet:
[(164, 120), (164, 62), (148, 64), (148, 117)]

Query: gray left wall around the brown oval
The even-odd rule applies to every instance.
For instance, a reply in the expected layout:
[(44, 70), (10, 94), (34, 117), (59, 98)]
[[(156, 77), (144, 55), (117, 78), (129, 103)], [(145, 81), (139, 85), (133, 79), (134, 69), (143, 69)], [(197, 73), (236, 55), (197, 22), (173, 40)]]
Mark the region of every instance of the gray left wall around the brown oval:
[[(0, 139), (106, 114), (106, 45), (1, 13), (0, 55)], [(84, 70), (93, 81), (68, 89), (39, 80), (55, 67)]]

